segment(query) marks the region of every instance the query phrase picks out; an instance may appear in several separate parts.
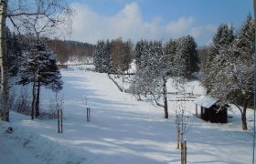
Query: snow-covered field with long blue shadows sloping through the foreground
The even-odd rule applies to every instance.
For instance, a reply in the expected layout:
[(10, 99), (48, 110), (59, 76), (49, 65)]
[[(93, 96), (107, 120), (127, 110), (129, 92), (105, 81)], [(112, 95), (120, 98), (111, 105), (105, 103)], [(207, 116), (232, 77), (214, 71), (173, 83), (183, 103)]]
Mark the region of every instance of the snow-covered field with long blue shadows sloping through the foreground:
[[(30, 120), (11, 113), (9, 124), (0, 122), (0, 163), (180, 163), (176, 149), (176, 101), (169, 101), (169, 119), (163, 108), (136, 101), (120, 92), (106, 74), (73, 67), (62, 70), (64, 88), (64, 133), (57, 133), (57, 120)], [(187, 89), (204, 94), (197, 81)], [(168, 85), (168, 92), (175, 92)], [(189, 91), (189, 92), (190, 92)], [(42, 91), (42, 101), (54, 99)], [(91, 108), (86, 121), (85, 97)], [(174, 99), (176, 96), (170, 97)], [(46, 106), (47, 107), (47, 106)], [(195, 112), (193, 101), (186, 109)], [(229, 111), (229, 123), (211, 124), (193, 118), (187, 132), (187, 163), (247, 164), (252, 159), (251, 132), (241, 130), (240, 113)], [(252, 126), (252, 110), (248, 124)], [(13, 133), (5, 132), (9, 126)]]

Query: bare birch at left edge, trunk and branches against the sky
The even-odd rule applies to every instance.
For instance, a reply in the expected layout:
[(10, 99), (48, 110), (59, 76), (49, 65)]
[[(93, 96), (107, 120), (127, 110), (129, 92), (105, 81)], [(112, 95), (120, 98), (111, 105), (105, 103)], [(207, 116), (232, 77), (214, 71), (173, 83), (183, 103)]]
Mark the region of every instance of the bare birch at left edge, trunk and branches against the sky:
[[(1, 67), (1, 115), (9, 121), (8, 108), (8, 68), (6, 61), (6, 19), (18, 32), (32, 32), (33, 36), (57, 34), (62, 27), (66, 33), (71, 30), (73, 9), (65, 0), (1, 0), (0, 2), (0, 67)], [(50, 33), (49, 33), (50, 31)]]

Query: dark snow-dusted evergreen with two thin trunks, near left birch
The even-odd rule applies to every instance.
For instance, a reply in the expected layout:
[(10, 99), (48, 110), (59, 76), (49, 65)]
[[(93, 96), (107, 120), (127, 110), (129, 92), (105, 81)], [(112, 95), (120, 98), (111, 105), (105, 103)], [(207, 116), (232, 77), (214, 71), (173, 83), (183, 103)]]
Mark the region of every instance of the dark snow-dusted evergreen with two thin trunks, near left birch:
[(33, 84), (31, 119), (37, 118), (40, 87), (45, 86), (54, 92), (62, 89), (63, 82), (57, 66), (57, 57), (45, 44), (31, 44), (27, 53), (24, 53), (19, 73), (19, 84)]

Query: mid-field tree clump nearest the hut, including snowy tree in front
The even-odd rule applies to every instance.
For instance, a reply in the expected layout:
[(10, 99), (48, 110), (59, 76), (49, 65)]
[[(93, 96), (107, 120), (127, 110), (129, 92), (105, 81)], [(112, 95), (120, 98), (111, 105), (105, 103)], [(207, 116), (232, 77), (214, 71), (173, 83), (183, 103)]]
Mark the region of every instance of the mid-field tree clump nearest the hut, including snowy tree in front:
[[(136, 97), (150, 94), (156, 105), (164, 108), (168, 118), (166, 82), (170, 77), (176, 80), (190, 78), (199, 70), (197, 43), (193, 36), (170, 39), (163, 46), (160, 41), (141, 40), (135, 46), (136, 75), (130, 89)], [(163, 104), (157, 97), (163, 97)]]

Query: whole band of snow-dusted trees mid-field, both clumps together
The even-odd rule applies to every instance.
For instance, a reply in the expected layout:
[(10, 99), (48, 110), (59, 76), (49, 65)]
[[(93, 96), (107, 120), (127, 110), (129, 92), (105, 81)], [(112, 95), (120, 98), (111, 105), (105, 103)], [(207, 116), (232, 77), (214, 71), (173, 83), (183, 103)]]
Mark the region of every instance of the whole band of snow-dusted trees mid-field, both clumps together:
[[(191, 78), (199, 70), (197, 43), (193, 36), (182, 36), (161, 41), (138, 41), (133, 48), (131, 41), (123, 42), (122, 38), (97, 43), (93, 54), (95, 70), (104, 73), (123, 75), (129, 70), (132, 61), (136, 64), (136, 74), (130, 92), (135, 97), (150, 94), (158, 106), (165, 109), (168, 118), (166, 82), (170, 77)], [(163, 95), (164, 104), (158, 102)]]

